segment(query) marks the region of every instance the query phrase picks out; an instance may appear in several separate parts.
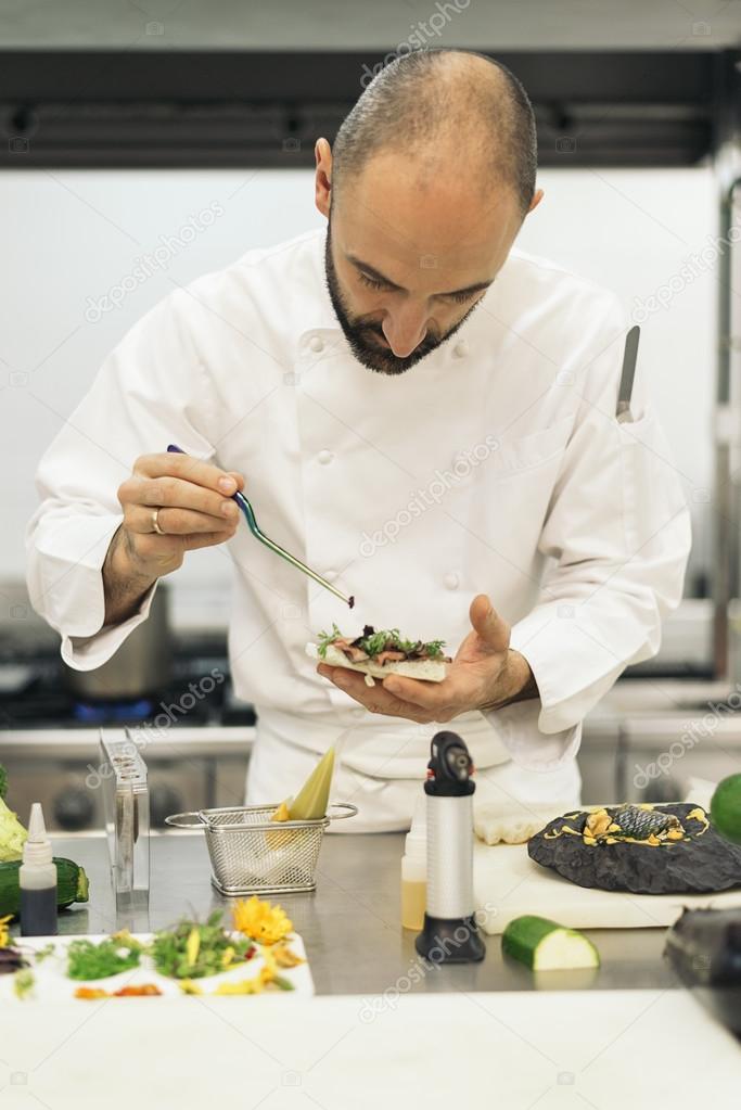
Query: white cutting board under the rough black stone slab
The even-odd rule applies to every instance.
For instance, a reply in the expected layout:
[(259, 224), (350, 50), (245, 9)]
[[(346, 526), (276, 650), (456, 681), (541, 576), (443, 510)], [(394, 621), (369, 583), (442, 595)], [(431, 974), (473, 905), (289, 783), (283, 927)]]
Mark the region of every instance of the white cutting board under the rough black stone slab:
[(526, 844), (474, 841), (474, 896), (485, 932), (504, 932), (522, 914), (575, 929), (646, 929), (673, 925), (691, 909), (741, 907), (741, 890), (720, 895), (631, 895), (578, 887), (535, 864)]

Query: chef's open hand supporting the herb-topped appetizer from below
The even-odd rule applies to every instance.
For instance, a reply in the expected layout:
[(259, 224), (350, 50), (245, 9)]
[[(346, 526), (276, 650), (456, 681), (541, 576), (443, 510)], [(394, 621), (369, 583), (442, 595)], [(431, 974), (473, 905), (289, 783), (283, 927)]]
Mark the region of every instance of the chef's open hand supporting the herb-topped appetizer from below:
[(509, 625), (485, 594), (474, 598), (469, 617), (473, 632), (458, 648), (441, 683), (389, 675), (370, 687), (365, 685), (364, 675), (346, 667), (321, 663), (316, 669), (370, 713), (406, 717), (424, 725), (453, 720), (470, 709), (497, 709), (537, 697), (538, 687), (527, 659), (509, 647)]

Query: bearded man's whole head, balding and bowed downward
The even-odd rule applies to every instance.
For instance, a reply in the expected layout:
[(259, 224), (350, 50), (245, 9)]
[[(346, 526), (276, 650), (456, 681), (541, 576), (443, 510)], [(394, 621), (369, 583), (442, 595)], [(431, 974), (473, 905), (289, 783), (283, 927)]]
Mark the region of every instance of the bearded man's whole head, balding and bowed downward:
[(480, 54), (410, 54), (315, 157), (337, 319), (365, 366), (405, 373), (480, 303), (540, 200), (529, 101)]

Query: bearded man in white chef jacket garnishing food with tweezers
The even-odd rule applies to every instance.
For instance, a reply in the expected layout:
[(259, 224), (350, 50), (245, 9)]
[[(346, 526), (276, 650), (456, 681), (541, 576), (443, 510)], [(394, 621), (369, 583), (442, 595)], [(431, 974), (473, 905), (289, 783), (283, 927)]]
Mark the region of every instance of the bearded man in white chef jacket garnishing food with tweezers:
[[(690, 546), (646, 367), (618, 421), (615, 296), (512, 249), (542, 193), (503, 67), (397, 59), (315, 157), (326, 226), (158, 304), (43, 456), (33, 605), (92, 669), (215, 546), (235, 572), (235, 690), (258, 715), (248, 801), (295, 793), (338, 741), (348, 826), (404, 828), (449, 722), (479, 797), (575, 805), (582, 718), (658, 650)], [(253, 538), (242, 488), (353, 612)], [(305, 645), (333, 623), (443, 638), (448, 676), (369, 688), (317, 666)]]

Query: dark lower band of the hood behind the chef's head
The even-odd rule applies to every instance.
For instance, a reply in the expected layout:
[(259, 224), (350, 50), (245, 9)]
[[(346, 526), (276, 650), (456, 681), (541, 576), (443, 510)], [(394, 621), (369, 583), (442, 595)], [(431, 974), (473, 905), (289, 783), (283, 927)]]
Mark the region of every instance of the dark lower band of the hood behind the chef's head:
[[(692, 165), (734, 51), (488, 50), (524, 82), (541, 165)], [(388, 54), (0, 51), (0, 169), (313, 165)]]

